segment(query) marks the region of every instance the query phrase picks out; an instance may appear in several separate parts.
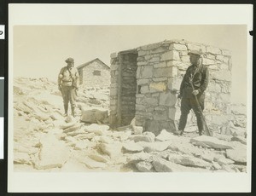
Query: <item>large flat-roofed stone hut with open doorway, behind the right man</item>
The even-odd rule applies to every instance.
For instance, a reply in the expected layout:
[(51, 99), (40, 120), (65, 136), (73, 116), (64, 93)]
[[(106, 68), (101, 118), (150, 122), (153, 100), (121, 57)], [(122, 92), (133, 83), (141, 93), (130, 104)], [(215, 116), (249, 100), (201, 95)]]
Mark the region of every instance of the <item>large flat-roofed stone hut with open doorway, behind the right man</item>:
[[(177, 91), (190, 65), (188, 52), (201, 49), (209, 67), (204, 114), (209, 128), (218, 131), (230, 120), (231, 55), (226, 49), (184, 40), (165, 40), (111, 55), (110, 124), (143, 126), (158, 134), (173, 131), (180, 117)], [(189, 114), (195, 124), (195, 114)]]

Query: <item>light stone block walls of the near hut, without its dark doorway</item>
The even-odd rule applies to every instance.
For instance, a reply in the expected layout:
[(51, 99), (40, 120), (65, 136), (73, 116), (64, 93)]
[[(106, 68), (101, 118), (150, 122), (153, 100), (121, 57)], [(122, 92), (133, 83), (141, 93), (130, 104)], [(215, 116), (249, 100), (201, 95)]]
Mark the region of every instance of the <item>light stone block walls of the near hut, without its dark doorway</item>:
[[(214, 129), (227, 124), (230, 118), (231, 57), (226, 49), (181, 40), (153, 43), (137, 48), (136, 124), (158, 134), (173, 131), (180, 117), (177, 90), (190, 65), (188, 52), (201, 49), (203, 64), (209, 67), (210, 81), (206, 91), (205, 115)], [(111, 86), (118, 84), (118, 64), (112, 58)], [(113, 90), (114, 91), (114, 90)], [(118, 92), (110, 92), (117, 99)], [(112, 108), (115, 102), (111, 101)], [(113, 112), (113, 110), (112, 110)], [(188, 125), (195, 124), (190, 112)]]

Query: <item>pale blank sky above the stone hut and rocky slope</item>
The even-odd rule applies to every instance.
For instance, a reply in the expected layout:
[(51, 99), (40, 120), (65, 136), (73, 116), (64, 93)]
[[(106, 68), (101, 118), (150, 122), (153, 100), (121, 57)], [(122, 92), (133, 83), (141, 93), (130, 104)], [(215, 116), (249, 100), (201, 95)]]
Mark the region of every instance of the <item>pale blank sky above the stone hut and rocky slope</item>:
[(110, 55), (164, 40), (205, 43), (232, 54), (231, 101), (247, 101), (247, 26), (15, 26), (14, 77), (46, 77), (57, 81), (65, 60), (75, 66), (99, 58), (110, 66)]

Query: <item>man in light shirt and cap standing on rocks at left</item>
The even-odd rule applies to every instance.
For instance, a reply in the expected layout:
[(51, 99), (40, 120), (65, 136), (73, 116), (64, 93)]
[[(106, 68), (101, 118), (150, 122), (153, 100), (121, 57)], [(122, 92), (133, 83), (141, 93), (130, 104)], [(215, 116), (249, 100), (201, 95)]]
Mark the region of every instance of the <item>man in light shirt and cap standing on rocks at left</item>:
[(66, 62), (67, 66), (62, 67), (59, 73), (58, 85), (63, 97), (64, 116), (67, 116), (68, 102), (70, 102), (71, 112), (74, 117), (76, 92), (79, 87), (79, 72), (73, 66), (73, 58), (67, 58)]

